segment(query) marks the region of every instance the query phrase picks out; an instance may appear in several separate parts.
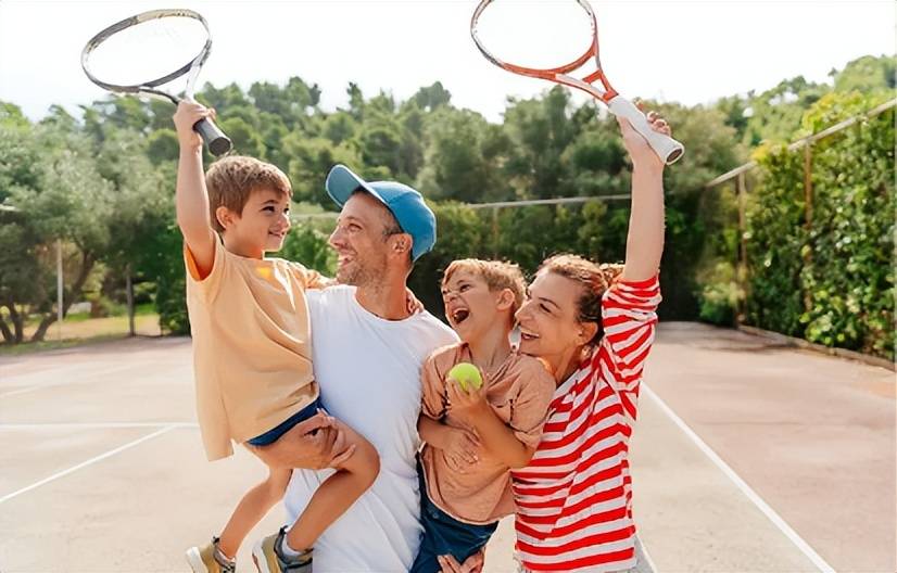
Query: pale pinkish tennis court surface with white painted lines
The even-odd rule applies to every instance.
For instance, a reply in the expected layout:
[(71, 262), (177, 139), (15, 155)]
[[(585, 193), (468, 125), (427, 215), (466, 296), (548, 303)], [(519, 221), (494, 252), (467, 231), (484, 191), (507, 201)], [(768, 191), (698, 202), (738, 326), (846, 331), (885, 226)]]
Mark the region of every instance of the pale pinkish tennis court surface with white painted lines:
[[(243, 453), (205, 461), (190, 364), (187, 339), (0, 358), (0, 571), (187, 571), (264, 474)], [(897, 571), (889, 370), (666, 324), (633, 474), (658, 571)], [(489, 571), (514, 570), (511, 540), (505, 522)]]

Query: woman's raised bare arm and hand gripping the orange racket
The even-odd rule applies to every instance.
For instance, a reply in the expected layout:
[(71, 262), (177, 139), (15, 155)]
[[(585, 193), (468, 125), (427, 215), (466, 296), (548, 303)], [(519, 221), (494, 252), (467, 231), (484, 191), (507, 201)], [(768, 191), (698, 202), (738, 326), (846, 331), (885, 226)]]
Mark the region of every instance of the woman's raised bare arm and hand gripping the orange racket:
[[(652, 129), (670, 135), (655, 112), (648, 112), (647, 119)], [(632, 211), (621, 279), (642, 281), (657, 275), (664, 253), (664, 162), (628, 120), (618, 120), (632, 160)]]

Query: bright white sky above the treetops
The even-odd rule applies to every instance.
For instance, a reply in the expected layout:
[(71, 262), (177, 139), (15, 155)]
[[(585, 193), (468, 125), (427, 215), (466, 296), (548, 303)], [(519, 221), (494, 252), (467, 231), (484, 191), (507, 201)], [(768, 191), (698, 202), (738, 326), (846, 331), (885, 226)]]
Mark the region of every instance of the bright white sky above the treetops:
[[(248, 88), (300, 76), (320, 87), (325, 110), (334, 110), (348, 103), (349, 81), (366, 97), (384, 90), (404, 100), (440, 80), (456, 106), (498, 122), (508, 97), (532, 97), (551, 85), (504, 72), (480, 55), (469, 34), (476, 4), (0, 0), (0, 100), (36, 119), (52, 104), (77, 112), (78, 104), (102, 99), (104, 92), (80, 69), (84, 43), (121, 18), (170, 5), (201, 12), (212, 28), (214, 46), (200, 84), (236, 81)], [(798, 75), (825, 81), (833, 67), (856, 58), (897, 51), (893, 0), (593, 0), (592, 5), (605, 73), (630, 98), (709, 103)]]

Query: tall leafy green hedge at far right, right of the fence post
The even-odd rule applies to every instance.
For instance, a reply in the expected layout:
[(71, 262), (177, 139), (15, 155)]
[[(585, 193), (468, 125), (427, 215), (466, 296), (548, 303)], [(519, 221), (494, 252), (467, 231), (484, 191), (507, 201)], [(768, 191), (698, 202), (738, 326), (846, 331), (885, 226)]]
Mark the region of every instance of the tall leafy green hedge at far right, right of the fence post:
[[(804, 117), (818, 131), (875, 103), (830, 93)], [(748, 208), (751, 324), (894, 358), (894, 110), (812, 148), (807, 222), (804, 152), (767, 147)]]

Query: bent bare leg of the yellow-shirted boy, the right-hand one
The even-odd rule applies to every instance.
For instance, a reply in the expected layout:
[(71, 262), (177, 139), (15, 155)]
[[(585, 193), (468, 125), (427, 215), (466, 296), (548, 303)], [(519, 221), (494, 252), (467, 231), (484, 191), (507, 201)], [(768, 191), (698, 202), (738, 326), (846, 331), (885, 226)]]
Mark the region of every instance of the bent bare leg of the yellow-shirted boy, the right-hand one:
[(380, 473), (380, 456), (361, 434), (337, 421), (346, 444), (355, 453), (325, 480), (312, 496), (305, 511), (287, 534), (287, 544), (295, 551), (309, 549), (320, 534), (340, 518), (374, 484)]

